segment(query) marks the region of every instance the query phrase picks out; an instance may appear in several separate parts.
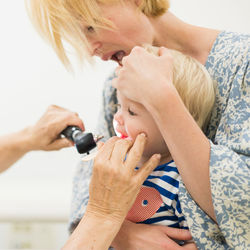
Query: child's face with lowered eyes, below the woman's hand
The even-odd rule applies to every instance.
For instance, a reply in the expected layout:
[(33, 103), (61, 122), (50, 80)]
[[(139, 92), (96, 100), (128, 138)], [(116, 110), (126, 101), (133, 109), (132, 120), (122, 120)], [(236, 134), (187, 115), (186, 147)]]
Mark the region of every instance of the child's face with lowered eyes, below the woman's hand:
[(118, 111), (114, 119), (117, 123), (115, 130), (133, 141), (140, 133), (147, 135), (144, 157), (151, 157), (154, 153), (168, 155), (166, 143), (150, 113), (139, 103), (133, 102), (117, 91)]

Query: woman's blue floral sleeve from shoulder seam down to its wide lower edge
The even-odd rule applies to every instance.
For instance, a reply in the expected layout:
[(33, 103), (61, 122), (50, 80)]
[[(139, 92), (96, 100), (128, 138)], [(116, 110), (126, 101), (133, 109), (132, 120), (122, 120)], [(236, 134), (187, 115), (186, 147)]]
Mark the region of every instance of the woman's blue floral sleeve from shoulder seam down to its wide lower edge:
[(238, 66), (211, 143), (210, 183), (216, 219), (227, 244), (250, 249), (249, 48)]

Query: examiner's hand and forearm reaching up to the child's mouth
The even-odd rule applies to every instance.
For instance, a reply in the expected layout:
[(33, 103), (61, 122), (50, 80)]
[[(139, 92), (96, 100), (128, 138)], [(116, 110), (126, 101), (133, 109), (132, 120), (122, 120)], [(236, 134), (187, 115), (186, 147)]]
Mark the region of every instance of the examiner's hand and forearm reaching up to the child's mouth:
[(134, 145), (128, 139), (113, 137), (98, 146), (86, 212), (63, 249), (108, 249), (142, 183), (159, 163), (160, 156), (153, 155), (135, 170), (145, 143), (141, 134)]

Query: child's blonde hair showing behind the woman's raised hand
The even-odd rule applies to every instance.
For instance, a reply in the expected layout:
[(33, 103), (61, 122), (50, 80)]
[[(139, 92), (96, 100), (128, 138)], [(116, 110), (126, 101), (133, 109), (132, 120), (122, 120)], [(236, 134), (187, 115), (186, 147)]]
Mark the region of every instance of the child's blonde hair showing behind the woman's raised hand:
[[(144, 47), (158, 55), (158, 48)], [(173, 56), (173, 84), (189, 113), (205, 131), (215, 101), (214, 82), (205, 66), (196, 59), (176, 50), (170, 51)]]

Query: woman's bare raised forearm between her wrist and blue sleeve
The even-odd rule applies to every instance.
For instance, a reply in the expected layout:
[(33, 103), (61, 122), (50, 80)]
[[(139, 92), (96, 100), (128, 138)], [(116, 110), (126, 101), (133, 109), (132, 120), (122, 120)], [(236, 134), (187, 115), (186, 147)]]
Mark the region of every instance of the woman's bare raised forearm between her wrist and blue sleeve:
[(209, 179), (209, 140), (187, 111), (177, 91), (168, 88), (165, 93), (165, 99), (161, 99), (159, 105), (148, 105), (147, 108), (168, 145), (187, 190), (216, 221)]

